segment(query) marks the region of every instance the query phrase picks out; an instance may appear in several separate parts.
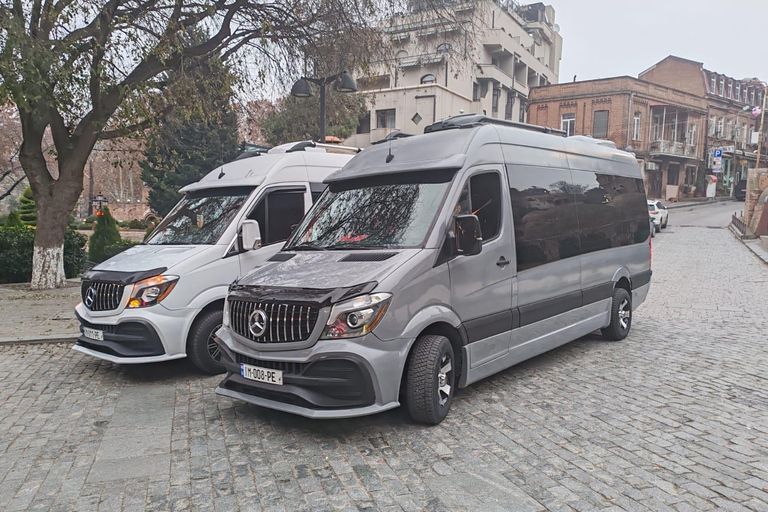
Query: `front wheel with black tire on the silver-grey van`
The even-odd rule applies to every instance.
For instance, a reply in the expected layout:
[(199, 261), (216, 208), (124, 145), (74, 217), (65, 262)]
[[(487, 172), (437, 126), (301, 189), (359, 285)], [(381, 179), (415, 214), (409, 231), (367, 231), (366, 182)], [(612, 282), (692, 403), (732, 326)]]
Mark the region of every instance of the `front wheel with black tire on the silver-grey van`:
[[(449, 369), (442, 372), (446, 366)], [(455, 376), (456, 361), (448, 338), (433, 334), (419, 337), (411, 351), (406, 381), (406, 401), (411, 418), (431, 425), (443, 421), (451, 408)], [(439, 387), (441, 378), (444, 380), (442, 388)]]

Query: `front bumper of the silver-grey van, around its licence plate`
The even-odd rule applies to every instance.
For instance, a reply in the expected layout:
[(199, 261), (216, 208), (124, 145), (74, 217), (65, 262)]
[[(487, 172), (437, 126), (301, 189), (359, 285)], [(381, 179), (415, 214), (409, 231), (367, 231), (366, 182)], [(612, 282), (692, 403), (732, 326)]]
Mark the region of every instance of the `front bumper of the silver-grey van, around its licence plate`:
[[(260, 352), (223, 328), (217, 333), (227, 376), (222, 396), (308, 418), (349, 418), (400, 405), (400, 380), (410, 342), (383, 342), (373, 334), (350, 340), (322, 340), (313, 347)], [(283, 372), (283, 384), (246, 379), (240, 365)]]

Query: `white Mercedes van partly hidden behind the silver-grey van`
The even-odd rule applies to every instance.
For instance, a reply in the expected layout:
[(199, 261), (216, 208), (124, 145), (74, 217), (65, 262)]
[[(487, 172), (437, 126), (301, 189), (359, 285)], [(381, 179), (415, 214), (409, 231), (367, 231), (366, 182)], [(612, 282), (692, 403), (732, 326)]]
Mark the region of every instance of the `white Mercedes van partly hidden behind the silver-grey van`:
[[(281, 256), (323, 180), (356, 151), (285, 144), (244, 154), (182, 188), (184, 197), (143, 244), (83, 274), (75, 308), (82, 334), (73, 348), (123, 364), (189, 356), (205, 372), (223, 372), (213, 334), (229, 284)], [(256, 226), (260, 240), (244, 247), (243, 230)]]

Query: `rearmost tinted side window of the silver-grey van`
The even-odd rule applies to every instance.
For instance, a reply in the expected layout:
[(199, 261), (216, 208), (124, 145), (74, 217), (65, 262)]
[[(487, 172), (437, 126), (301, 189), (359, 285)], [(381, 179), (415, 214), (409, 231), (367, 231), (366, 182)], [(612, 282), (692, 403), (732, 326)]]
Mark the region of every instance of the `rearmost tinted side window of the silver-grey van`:
[(581, 253), (643, 242), (650, 233), (641, 179), (572, 171)]

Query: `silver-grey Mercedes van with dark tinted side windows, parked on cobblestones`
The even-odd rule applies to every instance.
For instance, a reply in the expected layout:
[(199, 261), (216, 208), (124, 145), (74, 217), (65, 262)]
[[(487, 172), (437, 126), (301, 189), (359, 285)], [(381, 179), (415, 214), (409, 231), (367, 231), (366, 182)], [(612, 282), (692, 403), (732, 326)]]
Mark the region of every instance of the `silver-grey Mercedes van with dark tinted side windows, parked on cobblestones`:
[(436, 424), (457, 387), (598, 329), (627, 336), (651, 279), (635, 158), (475, 115), (425, 132), (326, 178), (230, 286), (218, 394), (312, 418), (404, 400)]

